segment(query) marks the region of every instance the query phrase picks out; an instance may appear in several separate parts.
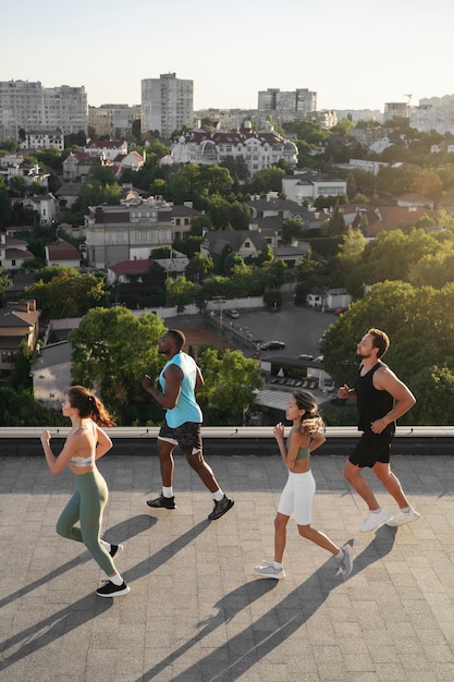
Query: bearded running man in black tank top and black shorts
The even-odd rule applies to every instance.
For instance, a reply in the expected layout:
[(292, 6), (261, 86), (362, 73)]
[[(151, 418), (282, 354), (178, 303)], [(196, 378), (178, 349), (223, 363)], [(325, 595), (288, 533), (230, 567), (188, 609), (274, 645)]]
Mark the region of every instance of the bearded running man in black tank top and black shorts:
[[(408, 412), (416, 400), (405, 383), (381, 362), (380, 358), (389, 345), (390, 340), (384, 331), (369, 329), (356, 346), (361, 364), (355, 387), (348, 388), (344, 383), (338, 392), (338, 398), (356, 398), (358, 404), (358, 429), (363, 431), (363, 436), (345, 464), (344, 476), (369, 507), (369, 513), (359, 526), (363, 533), (375, 531), (383, 523), (395, 527), (419, 519), (390, 467), (395, 421)], [(365, 466), (372, 470), (398, 504), (394, 516), (391, 517), (378, 503), (370, 485), (363, 477)]]

